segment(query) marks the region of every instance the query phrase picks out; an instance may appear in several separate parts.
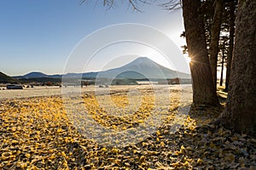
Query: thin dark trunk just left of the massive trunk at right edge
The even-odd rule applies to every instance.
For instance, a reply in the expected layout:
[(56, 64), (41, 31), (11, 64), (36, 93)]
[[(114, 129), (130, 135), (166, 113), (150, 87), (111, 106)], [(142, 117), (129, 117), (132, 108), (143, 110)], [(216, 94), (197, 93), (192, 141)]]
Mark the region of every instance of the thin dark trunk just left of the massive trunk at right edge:
[(234, 37), (235, 37), (235, 8), (236, 3), (234, 1), (230, 2), (230, 46), (228, 53), (227, 61), (227, 71), (226, 71), (226, 80), (225, 80), (225, 91), (229, 89), (230, 82), (230, 71), (231, 71), (231, 61), (233, 56), (233, 47), (234, 47)]

